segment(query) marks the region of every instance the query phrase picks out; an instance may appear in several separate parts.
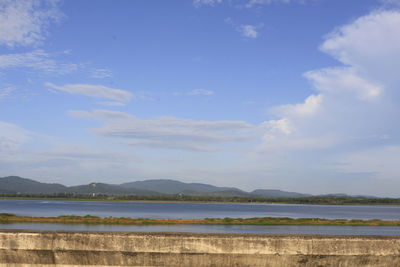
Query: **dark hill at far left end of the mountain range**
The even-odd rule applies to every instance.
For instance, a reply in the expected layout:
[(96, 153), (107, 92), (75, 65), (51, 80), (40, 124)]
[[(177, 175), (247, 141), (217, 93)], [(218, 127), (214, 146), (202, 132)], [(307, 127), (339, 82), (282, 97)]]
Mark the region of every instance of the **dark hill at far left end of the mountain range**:
[(69, 189), (62, 184), (40, 183), (18, 176), (8, 176), (0, 178), (0, 191), (8, 193), (54, 194), (69, 192)]

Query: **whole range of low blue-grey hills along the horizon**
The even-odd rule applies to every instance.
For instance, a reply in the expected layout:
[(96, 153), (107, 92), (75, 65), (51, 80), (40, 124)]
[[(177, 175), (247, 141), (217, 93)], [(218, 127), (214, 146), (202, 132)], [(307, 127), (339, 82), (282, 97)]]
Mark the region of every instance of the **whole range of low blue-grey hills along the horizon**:
[(65, 186), (57, 183), (42, 183), (18, 176), (0, 178), (2, 194), (106, 194), (106, 195), (195, 195), (195, 196), (239, 196), (239, 197), (309, 197), (310, 194), (286, 192), (273, 189), (256, 189), (251, 192), (235, 187), (218, 187), (202, 183), (184, 183), (176, 180), (157, 179), (123, 184), (90, 183)]

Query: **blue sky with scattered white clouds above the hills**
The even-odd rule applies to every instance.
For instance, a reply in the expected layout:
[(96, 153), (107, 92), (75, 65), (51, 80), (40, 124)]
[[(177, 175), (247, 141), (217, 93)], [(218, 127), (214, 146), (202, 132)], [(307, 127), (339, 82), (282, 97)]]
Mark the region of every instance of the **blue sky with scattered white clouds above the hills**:
[(0, 177), (400, 197), (398, 0), (0, 0)]

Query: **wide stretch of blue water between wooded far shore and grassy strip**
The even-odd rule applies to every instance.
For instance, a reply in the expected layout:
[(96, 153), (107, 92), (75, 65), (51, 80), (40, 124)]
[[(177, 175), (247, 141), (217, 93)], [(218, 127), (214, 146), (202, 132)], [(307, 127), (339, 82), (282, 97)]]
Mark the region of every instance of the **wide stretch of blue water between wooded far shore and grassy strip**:
[(400, 206), (0, 200), (0, 212), (21, 216), (90, 214), (100, 217), (170, 219), (291, 217), (400, 220)]

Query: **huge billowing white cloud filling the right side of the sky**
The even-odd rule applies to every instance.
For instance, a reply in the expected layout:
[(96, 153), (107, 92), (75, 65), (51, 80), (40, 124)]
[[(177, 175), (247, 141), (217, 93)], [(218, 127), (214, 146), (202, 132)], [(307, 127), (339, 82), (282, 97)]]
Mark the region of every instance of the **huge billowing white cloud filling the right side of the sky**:
[(287, 158), (301, 162), (304, 172), (326, 160), (342, 174), (398, 177), (400, 12), (376, 11), (340, 27), (321, 50), (344, 66), (306, 73), (316, 93), (270, 110), (277, 118), (262, 124), (264, 155), (280, 154), (282, 166)]

